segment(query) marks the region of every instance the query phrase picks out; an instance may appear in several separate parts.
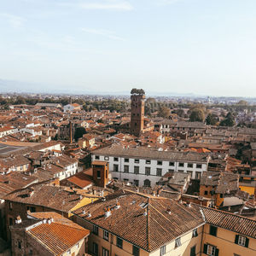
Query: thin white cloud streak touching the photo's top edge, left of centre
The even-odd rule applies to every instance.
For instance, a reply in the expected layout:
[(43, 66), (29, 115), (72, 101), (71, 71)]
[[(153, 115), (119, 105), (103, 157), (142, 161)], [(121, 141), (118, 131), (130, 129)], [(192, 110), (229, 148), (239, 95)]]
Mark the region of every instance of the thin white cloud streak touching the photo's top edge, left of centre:
[(102, 1), (86, 1), (73, 3), (60, 3), (61, 6), (74, 7), (79, 9), (99, 9), (99, 10), (119, 10), (130, 11), (133, 9), (131, 3), (125, 0), (102, 0)]

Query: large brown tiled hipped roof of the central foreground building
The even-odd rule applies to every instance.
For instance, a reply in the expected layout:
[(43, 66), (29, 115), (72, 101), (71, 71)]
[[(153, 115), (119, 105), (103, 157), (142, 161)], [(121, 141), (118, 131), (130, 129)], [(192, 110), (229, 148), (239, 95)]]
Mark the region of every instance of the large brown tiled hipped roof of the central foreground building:
[[(119, 209), (115, 205), (119, 202)], [(105, 218), (105, 208), (111, 215)], [(171, 210), (171, 214), (167, 212)], [(91, 217), (83, 212), (90, 212)], [(143, 213), (147, 212), (145, 216)], [(198, 209), (163, 197), (120, 190), (73, 213), (148, 252), (204, 224)]]

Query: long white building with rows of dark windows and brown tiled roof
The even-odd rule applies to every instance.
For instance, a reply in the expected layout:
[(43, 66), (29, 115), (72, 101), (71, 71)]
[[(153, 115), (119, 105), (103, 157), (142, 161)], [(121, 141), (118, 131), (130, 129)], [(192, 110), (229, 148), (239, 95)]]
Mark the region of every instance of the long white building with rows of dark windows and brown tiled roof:
[(200, 179), (202, 172), (207, 172), (209, 157), (206, 154), (147, 148), (111, 149), (97, 149), (92, 152), (92, 160), (108, 161), (113, 178), (139, 187), (154, 187), (166, 172), (187, 172), (193, 179)]

